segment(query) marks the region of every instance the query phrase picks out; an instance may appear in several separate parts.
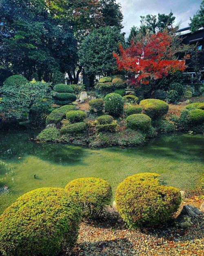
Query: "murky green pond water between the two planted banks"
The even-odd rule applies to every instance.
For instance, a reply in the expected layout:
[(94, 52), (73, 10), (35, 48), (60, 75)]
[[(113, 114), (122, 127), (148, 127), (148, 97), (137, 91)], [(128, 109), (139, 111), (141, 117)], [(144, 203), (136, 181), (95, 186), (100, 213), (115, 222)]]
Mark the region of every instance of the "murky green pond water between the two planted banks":
[(170, 134), (137, 147), (90, 149), (35, 143), (36, 134), (0, 134), (0, 212), (29, 190), (64, 187), (79, 177), (106, 179), (114, 191), (129, 175), (157, 172), (162, 184), (182, 189), (193, 188), (204, 172), (202, 135)]

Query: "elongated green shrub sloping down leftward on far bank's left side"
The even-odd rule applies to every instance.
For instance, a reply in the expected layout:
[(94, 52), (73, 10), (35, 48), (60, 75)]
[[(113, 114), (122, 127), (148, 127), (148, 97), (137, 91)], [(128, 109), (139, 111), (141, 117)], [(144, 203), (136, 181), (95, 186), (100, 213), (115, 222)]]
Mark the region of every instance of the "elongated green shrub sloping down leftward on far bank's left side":
[(56, 125), (57, 123), (59, 123), (62, 120), (62, 118), (65, 118), (66, 113), (68, 111), (75, 110), (75, 109), (76, 109), (76, 107), (74, 105), (64, 105), (58, 109), (53, 110), (49, 114), (49, 116), (47, 116), (47, 118), (46, 118), (46, 125), (49, 125), (49, 124)]

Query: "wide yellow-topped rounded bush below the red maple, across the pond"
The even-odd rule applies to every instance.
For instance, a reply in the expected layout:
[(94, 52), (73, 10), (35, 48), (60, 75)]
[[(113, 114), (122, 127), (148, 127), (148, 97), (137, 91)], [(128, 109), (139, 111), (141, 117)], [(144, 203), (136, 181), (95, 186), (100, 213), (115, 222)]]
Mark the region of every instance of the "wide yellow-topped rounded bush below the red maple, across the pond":
[(156, 99), (141, 100), (140, 106), (142, 106), (144, 114), (154, 119), (165, 115), (169, 110), (169, 105), (166, 102)]

